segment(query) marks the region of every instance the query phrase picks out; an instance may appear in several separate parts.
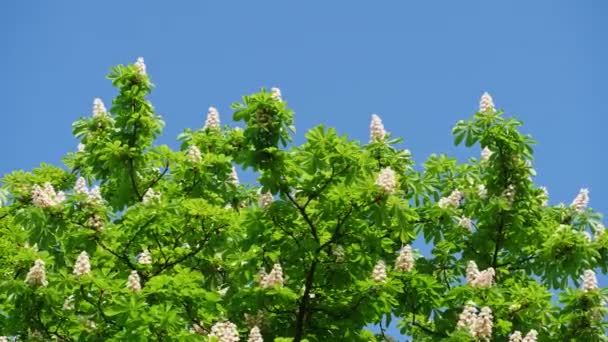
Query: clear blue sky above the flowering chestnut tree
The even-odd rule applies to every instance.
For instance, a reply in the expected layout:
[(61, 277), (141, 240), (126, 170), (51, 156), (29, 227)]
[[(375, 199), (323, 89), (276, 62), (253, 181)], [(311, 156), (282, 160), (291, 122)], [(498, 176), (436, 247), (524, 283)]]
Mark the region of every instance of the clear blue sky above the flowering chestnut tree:
[[(581, 187), (608, 213), (608, 2), (2, 1), (0, 175), (58, 163), (93, 97), (111, 102), (110, 66), (146, 59), (151, 99), (176, 146), (207, 107), (278, 86), (298, 139), (325, 123), (368, 137), (372, 113), (417, 161), (459, 158), (450, 129), (488, 91), (539, 142), (551, 203)], [(608, 285), (604, 277), (600, 285)]]

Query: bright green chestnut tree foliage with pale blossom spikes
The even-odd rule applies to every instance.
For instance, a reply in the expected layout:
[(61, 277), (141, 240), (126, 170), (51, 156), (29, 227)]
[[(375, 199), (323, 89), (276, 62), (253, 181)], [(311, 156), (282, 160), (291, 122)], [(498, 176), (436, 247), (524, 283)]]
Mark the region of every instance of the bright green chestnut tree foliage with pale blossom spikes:
[[(606, 340), (607, 291), (576, 289), (585, 270), (608, 271), (601, 216), (543, 203), (534, 142), (503, 112), (453, 130), (489, 158), (432, 155), (416, 169), (391, 137), (362, 144), (321, 125), (289, 146), (294, 113), (262, 89), (233, 104), (243, 129), (186, 129), (174, 151), (155, 144), (164, 123), (148, 75), (119, 65), (108, 77), (118, 95), (74, 123), (84, 148), (66, 169), (2, 179), (0, 335), (223, 341), (209, 333), (230, 321), (241, 340), (258, 326), (267, 341), (392, 341), (382, 327), (398, 319), (416, 341), (532, 329), (540, 341)], [(257, 184), (239, 184), (234, 166)], [(394, 187), (379, 178), (389, 168)], [(404, 266), (398, 251), (417, 239), (429, 250)], [(495, 271), (490, 286), (467, 280), (470, 261)], [(487, 339), (457, 323), (470, 302), (492, 311)]]

